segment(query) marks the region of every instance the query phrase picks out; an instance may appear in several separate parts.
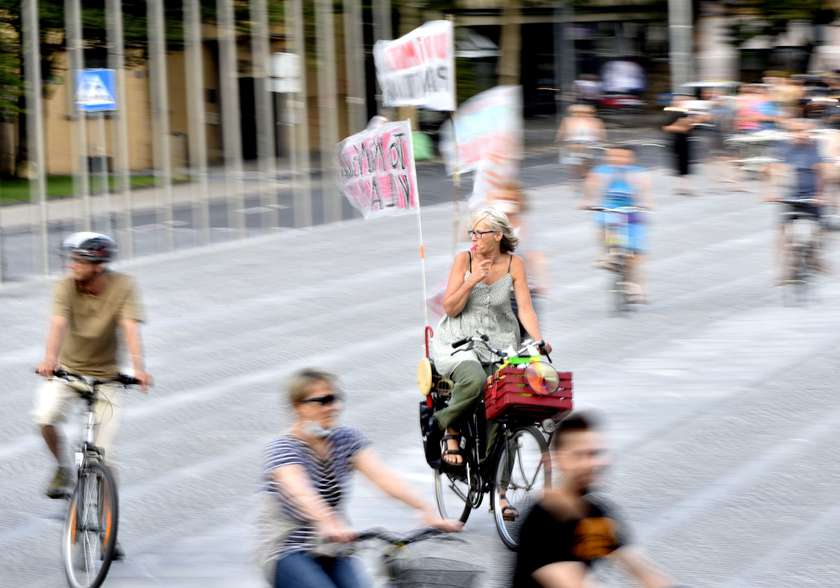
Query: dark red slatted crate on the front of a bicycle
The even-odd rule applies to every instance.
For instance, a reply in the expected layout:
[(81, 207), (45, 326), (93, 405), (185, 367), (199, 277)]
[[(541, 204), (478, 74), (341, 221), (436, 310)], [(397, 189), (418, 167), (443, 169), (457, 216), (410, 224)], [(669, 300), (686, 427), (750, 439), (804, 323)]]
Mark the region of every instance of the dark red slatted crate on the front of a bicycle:
[(500, 416), (541, 420), (572, 410), (572, 372), (559, 372), (560, 387), (550, 395), (537, 394), (522, 367), (507, 366), (487, 379), (484, 410), (488, 419)]

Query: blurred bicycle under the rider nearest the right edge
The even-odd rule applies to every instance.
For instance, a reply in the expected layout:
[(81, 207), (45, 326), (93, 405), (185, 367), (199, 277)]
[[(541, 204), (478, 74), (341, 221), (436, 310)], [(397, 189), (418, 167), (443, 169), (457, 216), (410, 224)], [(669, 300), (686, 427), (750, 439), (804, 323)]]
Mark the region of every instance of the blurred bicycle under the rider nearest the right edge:
[(817, 248), (821, 230), (820, 219), (813, 212), (813, 199), (783, 199), (779, 204), (788, 206), (784, 215), (785, 242), (787, 247), (786, 300), (803, 304), (810, 297), (811, 285), (818, 270)]

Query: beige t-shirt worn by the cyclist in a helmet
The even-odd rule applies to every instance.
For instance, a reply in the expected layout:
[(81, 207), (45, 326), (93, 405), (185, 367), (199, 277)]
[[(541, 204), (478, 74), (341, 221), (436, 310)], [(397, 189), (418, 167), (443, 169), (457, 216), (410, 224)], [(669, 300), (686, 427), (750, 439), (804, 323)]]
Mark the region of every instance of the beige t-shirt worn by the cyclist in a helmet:
[(99, 296), (81, 292), (72, 277), (55, 288), (53, 315), (68, 320), (59, 363), (71, 372), (97, 378), (117, 374), (117, 330), (122, 320), (143, 320), (134, 280), (117, 272), (105, 274)]

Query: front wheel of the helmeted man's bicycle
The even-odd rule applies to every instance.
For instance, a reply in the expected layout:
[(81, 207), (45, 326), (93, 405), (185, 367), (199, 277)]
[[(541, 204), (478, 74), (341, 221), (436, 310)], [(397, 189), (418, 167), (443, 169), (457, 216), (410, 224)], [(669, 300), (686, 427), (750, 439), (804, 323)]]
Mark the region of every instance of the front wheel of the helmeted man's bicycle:
[(73, 588), (97, 588), (105, 581), (117, 545), (117, 487), (100, 463), (79, 475), (64, 524), (62, 555)]

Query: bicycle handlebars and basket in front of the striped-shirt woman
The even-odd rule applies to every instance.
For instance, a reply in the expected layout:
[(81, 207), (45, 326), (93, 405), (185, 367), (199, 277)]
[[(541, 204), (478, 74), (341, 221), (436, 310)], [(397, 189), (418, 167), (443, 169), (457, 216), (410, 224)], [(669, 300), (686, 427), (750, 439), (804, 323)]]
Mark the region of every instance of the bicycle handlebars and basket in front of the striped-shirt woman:
[(400, 588), (426, 588), (439, 586), (441, 588), (472, 588), (477, 583), (483, 571), (463, 561), (445, 559), (441, 557), (410, 557), (408, 547), (429, 539), (455, 540), (457, 537), (443, 533), (438, 529), (425, 528), (405, 534), (391, 533), (384, 529), (370, 529), (361, 531), (349, 544), (325, 543), (314, 550), (315, 554), (325, 557), (354, 555), (362, 543), (384, 543), (379, 558), (376, 581), (374, 586), (384, 588), (399, 586)]

